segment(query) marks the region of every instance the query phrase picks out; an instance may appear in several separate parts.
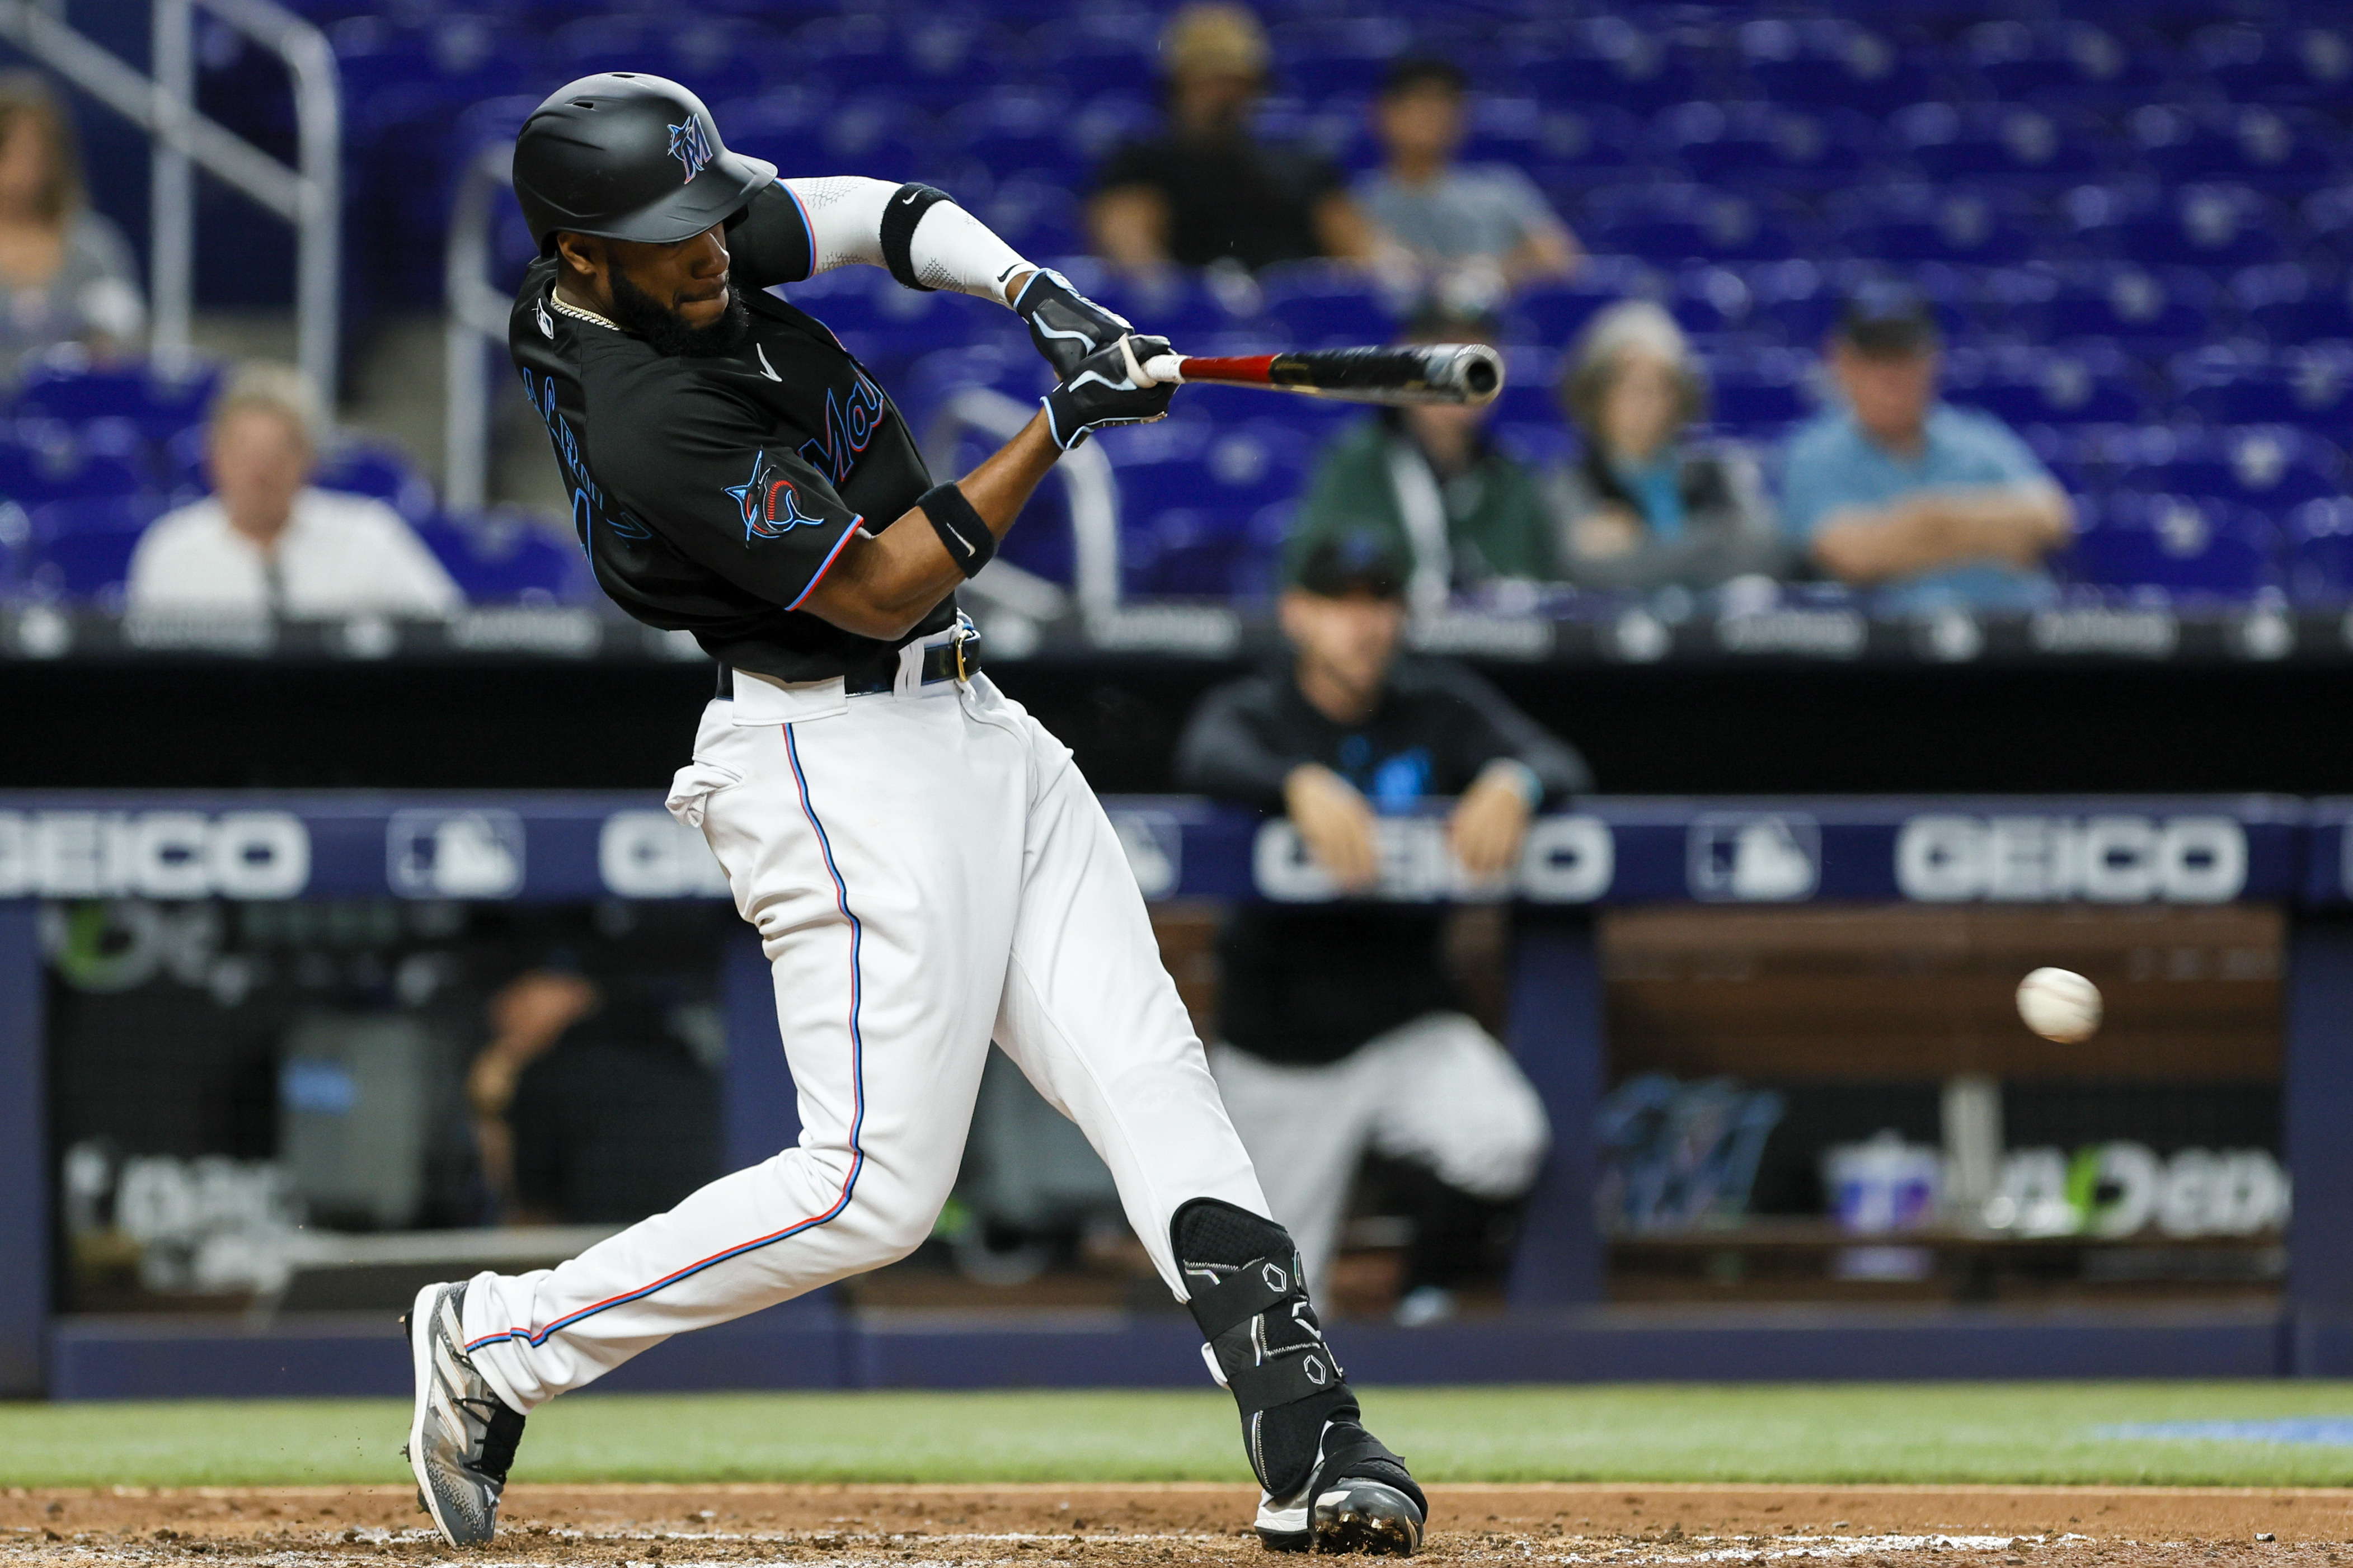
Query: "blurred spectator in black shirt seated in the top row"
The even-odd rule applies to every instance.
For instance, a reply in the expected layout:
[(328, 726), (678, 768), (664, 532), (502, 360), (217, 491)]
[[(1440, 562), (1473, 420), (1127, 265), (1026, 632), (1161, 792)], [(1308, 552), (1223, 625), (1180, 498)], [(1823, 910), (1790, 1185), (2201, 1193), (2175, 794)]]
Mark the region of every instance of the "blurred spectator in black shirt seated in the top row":
[(1240, 5), (1188, 5), (1160, 35), (1167, 134), (1122, 146), (1094, 179), (1094, 249), (1129, 270), (1332, 256), (1372, 261), (1377, 233), (1332, 160), (1249, 134), (1268, 47)]

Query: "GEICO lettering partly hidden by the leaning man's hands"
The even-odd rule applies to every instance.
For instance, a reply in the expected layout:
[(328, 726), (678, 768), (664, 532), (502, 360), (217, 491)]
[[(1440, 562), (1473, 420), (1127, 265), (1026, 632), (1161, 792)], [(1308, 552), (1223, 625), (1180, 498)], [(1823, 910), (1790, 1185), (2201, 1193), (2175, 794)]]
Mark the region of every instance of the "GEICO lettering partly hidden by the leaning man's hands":
[[(1447, 846), (1445, 818), (1393, 816), (1374, 823), (1381, 851), (1377, 898), (1506, 898), (1534, 903), (1593, 903), (1617, 875), (1617, 844), (1598, 816), (1539, 816), (1527, 825), (1520, 865), (1506, 877), (1473, 879)], [(1337, 898), (1332, 875), (1308, 853), (1289, 818), (1259, 827), (1252, 844), (1259, 893), (1280, 903)]]

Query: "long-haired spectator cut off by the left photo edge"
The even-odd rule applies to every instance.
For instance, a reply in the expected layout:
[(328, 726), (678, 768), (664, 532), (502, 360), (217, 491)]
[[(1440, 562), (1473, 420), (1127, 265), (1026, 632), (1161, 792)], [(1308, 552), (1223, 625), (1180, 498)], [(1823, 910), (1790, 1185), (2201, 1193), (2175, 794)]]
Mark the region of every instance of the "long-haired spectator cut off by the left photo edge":
[(146, 329), (122, 230), (89, 212), (73, 120), (47, 78), (0, 71), (0, 362), (61, 343), (132, 348)]

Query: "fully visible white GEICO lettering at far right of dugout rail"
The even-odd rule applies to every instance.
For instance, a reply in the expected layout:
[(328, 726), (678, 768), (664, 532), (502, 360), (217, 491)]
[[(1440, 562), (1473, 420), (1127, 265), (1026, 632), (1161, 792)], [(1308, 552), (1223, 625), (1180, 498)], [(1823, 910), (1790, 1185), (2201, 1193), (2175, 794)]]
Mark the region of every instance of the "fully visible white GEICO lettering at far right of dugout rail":
[(2228, 903), (2247, 832), (2226, 816), (1915, 816), (1897, 886), (1920, 903)]

